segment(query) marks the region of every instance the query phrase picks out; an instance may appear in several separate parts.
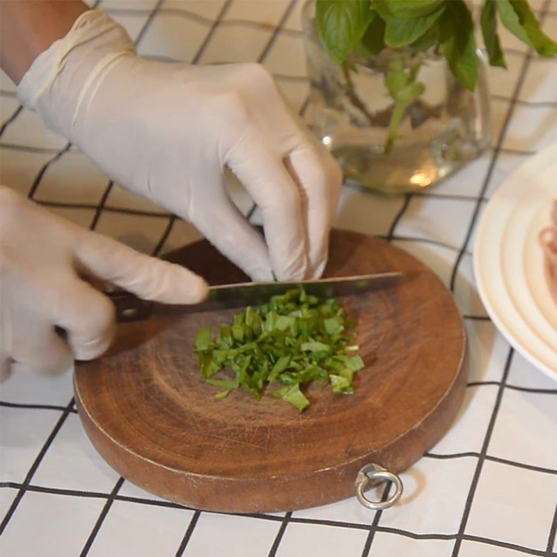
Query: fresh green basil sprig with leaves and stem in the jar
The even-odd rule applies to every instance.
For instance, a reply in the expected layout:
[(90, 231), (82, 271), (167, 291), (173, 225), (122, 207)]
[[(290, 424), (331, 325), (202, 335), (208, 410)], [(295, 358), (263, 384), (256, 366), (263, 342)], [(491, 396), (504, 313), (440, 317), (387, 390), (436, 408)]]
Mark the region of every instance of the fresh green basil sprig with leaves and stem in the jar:
[[(385, 48), (401, 53), (434, 49), (446, 58), (462, 86), (470, 91), (476, 88), (478, 45), (471, 10), (464, 0), (317, 0), (315, 15), (322, 45), (343, 65), (349, 88), (350, 72), (357, 71), (354, 61)], [(540, 56), (557, 54), (557, 42), (542, 31), (526, 0), (485, 0), (480, 25), (491, 65), (506, 68), (498, 20)], [(418, 69), (415, 65), (407, 68), (401, 56), (386, 73), (385, 85), (394, 101), (386, 152), (393, 146), (406, 109), (424, 91), (424, 84), (416, 81)], [(350, 97), (357, 95), (351, 91)]]

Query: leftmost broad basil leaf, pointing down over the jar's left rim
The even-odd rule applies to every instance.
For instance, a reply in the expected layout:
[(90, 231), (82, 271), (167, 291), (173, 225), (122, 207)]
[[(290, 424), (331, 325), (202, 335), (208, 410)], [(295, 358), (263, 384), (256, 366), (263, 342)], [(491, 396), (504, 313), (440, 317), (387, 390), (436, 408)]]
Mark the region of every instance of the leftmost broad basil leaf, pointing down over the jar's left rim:
[(317, 0), (315, 16), (324, 48), (340, 64), (360, 42), (372, 11), (369, 0)]

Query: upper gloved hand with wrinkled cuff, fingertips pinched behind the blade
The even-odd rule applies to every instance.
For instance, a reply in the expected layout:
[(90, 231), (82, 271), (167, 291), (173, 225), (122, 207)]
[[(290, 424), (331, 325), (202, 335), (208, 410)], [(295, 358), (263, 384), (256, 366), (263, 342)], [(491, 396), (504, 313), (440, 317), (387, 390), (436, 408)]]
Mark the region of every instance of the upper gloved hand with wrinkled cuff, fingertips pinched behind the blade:
[[(340, 169), (261, 65), (148, 61), (91, 10), (38, 56), (18, 96), (110, 178), (191, 221), (253, 279), (322, 273)], [(228, 198), (226, 166), (260, 207), (267, 244)]]

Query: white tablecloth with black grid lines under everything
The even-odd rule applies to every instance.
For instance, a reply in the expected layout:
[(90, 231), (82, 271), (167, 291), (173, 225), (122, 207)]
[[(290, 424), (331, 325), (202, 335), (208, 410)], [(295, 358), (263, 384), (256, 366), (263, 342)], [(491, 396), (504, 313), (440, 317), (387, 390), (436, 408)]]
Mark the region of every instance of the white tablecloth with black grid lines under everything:
[[(534, 1), (557, 37), (557, 1)], [(299, 8), (290, 0), (103, 0), (139, 52), (196, 63), (261, 61), (292, 105), (308, 84)], [(278, 515), (219, 515), (157, 499), (118, 477), (79, 423), (70, 373), (15, 375), (1, 387), (3, 557), (503, 557), (557, 551), (557, 384), (496, 331), (474, 284), (471, 246), (489, 196), (532, 152), (557, 140), (557, 61), (503, 33), (508, 71), (490, 70), (494, 143), (438, 187), (378, 198), (343, 189), (337, 226), (388, 237), (453, 290), (471, 352), (466, 401), (452, 430), (405, 473), (400, 504), (355, 499)], [(3, 184), (147, 253), (198, 234), (128, 194), (64, 139), (19, 109), (1, 79)], [(251, 200), (234, 198), (244, 212)], [(253, 215), (257, 220), (257, 214)]]

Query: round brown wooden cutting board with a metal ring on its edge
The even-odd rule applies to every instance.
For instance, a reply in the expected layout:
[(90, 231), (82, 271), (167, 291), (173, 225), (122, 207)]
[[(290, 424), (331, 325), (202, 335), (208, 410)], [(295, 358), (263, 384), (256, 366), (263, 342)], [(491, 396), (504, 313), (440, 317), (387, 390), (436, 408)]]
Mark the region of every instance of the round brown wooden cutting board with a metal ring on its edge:
[[(170, 258), (210, 283), (246, 277), (205, 241)], [(405, 251), (331, 235), (327, 276), (407, 271), (405, 283), (341, 299), (358, 320), (366, 368), (354, 395), (313, 384), (304, 414), (265, 395), (214, 400), (192, 352), (201, 327), (235, 313), (190, 313), (120, 325), (111, 352), (77, 366), (75, 397), (104, 459), (132, 483), (191, 507), (295, 510), (354, 494), (361, 466), (400, 472), (441, 439), (466, 386), (466, 337), (450, 292)]]

